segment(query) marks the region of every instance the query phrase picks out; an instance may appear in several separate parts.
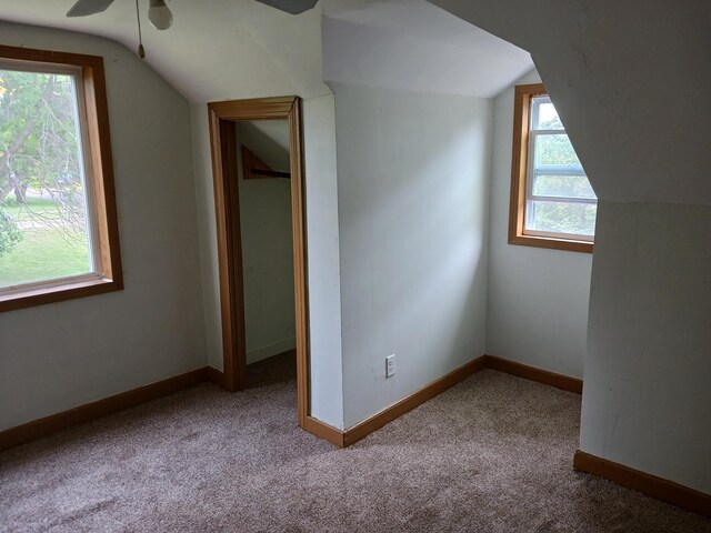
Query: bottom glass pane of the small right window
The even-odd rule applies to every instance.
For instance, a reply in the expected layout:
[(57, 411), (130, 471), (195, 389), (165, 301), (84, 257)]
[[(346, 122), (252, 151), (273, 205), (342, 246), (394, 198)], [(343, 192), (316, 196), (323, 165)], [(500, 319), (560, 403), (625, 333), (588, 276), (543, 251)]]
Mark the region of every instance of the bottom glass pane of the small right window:
[(598, 207), (589, 203), (529, 201), (525, 229), (550, 233), (593, 235)]

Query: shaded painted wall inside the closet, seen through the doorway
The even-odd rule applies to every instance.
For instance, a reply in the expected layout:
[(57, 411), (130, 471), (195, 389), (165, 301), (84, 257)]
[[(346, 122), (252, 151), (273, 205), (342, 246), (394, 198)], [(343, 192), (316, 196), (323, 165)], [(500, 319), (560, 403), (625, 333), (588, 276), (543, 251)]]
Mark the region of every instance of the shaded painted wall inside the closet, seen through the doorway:
[(247, 362), (253, 363), (297, 345), (291, 180), (244, 180), (241, 147), (289, 172), (289, 123), (238, 122), (237, 143)]

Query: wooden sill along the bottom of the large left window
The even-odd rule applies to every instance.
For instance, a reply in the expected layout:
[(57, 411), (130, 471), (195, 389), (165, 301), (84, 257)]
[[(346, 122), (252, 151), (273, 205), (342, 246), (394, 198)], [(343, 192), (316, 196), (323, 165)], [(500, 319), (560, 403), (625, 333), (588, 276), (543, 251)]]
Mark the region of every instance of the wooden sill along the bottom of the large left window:
[(66, 300), (103, 294), (122, 289), (123, 283), (121, 281), (101, 279), (26, 290), (16, 294), (0, 295), (0, 312), (32, 308), (46, 303), (63, 302)]

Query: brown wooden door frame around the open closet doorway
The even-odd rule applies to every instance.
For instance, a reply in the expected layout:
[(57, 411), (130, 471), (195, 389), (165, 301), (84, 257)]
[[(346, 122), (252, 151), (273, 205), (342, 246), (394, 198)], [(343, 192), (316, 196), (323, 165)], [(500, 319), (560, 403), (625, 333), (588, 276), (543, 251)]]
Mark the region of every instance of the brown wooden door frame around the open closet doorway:
[(301, 99), (280, 97), (210, 102), (208, 113), (220, 272), (223, 386), (228, 391), (241, 391), (247, 384), (236, 122), (278, 119), (289, 121), (297, 333), (297, 412), (299, 425), (303, 426), (309, 414), (309, 323)]

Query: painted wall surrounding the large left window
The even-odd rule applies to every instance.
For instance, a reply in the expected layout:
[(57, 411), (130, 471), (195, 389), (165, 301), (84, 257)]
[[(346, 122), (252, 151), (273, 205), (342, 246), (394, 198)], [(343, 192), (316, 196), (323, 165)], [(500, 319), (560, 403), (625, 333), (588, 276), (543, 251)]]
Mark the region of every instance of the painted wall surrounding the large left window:
[(204, 366), (186, 100), (123, 47), (0, 22), (3, 44), (104, 57), (126, 289), (0, 315), (0, 429)]

